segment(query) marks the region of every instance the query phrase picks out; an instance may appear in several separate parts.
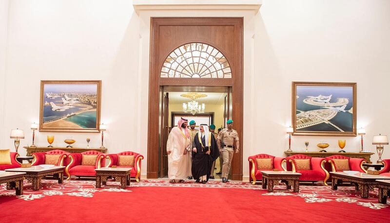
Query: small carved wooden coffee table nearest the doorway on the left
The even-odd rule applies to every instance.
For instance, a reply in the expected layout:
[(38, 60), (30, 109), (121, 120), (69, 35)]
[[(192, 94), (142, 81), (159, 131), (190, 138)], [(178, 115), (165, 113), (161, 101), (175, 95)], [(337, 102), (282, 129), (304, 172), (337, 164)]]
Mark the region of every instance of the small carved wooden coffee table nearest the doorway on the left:
[(107, 178), (110, 176), (115, 178), (115, 181), (120, 182), (120, 188), (126, 188), (130, 186), (131, 175), (130, 172), (133, 168), (110, 168), (104, 167), (95, 169), (96, 171), (96, 188), (101, 188), (101, 184), (106, 185)]

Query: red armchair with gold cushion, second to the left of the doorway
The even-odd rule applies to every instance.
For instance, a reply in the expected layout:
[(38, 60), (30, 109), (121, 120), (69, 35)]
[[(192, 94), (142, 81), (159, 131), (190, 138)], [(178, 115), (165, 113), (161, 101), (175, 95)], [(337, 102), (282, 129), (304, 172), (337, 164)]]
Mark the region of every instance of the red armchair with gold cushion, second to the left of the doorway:
[[(96, 156), (96, 157), (95, 157)], [(65, 172), (70, 179), (74, 176), (96, 176), (95, 169), (100, 169), (105, 165), (106, 154), (98, 151), (87, 151), (83, 153), (69, 154), (70, 162), (65, 168)]]

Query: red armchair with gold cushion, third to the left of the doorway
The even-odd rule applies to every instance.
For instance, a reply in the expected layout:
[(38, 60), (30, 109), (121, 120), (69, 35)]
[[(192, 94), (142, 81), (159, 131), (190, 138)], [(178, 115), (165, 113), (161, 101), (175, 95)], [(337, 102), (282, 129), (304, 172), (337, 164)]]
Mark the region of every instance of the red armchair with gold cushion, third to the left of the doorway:
[[(39, 153), (32, 153), (34, 159), (31, 166), (38, 166), (40, 164), (54, 164), (55, 166), (67, 166), (68, 165), (68, 159), (66, 157), (70, 153), (63, 151), (63, 150), (51, 150), (48, 152), (39, 152)], [(48, 157), (46, 159), (46, 155), (60, 155), (57, 157)], [(64, 174), (67, 174), (64, 170)], [(69, 176), (68, 176), (69, 177)]]

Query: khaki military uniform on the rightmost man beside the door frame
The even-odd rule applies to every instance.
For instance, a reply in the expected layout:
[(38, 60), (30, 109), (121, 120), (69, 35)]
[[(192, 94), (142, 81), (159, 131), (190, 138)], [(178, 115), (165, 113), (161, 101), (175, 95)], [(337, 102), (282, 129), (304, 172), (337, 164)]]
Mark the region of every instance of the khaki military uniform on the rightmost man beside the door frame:
[(222, 151), (222, 178), (228, 178), (230, 167), (232, 166), (232, 159), (233, 159), (233, 146), (234, 142), (238, 141), (238, 133), (234, 129), (229, 131), (228, 128), (222, 129), (219, 132), (218, 139), (221, 140), (221, 143), (224, 144), (224, 146), (221, 146)]

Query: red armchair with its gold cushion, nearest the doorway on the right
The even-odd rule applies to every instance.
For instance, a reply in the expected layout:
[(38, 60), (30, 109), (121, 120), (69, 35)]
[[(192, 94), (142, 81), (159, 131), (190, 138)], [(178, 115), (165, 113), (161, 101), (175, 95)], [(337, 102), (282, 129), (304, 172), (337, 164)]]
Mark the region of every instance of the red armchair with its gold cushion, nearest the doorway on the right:
[[(259, 159), (266, 163), (260, 161)], [(269, 159), (271, 159), (271, 165), (268, 163)], [(286, 158), (283, 157), (275, 157), (273, 155), (268, 154), (257, 154), (249, 156), (248, 161), (249, 172), (251, 173), (252, 178), (250, 179), (250, 181), (253, 181), (253, 185), (256, 183), (256, 180), (262, 180), (263, 176), (261, 174), (261, 171), (273, 171), (273, 169), (278, 169), (279, 171), (286, 171), (286, 169), (282, 165), (286, 162)]]

